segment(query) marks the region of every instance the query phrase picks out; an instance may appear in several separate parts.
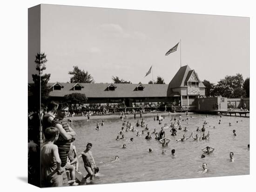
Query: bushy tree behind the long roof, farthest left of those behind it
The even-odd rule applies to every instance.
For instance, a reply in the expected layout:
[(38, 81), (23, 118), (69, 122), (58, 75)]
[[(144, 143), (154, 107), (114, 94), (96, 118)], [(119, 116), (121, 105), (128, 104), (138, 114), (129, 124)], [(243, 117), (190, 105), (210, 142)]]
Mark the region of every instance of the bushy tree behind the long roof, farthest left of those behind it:
[(73, 71), (69, 71), (69, 75), (73, 75), (70, 78), (70, 83), (94, 83), (94, 78), (88, 73), (88, 71), (80, 70), (78, 66), (73, 66)]

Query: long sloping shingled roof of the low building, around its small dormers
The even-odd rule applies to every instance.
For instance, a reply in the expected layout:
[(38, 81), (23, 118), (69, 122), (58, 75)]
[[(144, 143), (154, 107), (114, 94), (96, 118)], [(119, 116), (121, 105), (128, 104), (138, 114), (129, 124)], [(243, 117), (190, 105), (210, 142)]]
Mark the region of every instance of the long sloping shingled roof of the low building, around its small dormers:
[[(54, 83), (48, 83), (52, 86)], [(90, 98), (118, 98), (118, 97), (163, 97), (167, 96), (168, 84), (143, 84), (143, 91), (134, 91), (140, 84), (111, 83), (117, 89), (115, 91), (105, 91), (108, 83), (80, 83), (84, 89), (72, 90), (75, 83), (61, 83), (64, 87), (61, 91), (51, 91), (50, 96), (63, 97), (71, 93), (84, 93)]]

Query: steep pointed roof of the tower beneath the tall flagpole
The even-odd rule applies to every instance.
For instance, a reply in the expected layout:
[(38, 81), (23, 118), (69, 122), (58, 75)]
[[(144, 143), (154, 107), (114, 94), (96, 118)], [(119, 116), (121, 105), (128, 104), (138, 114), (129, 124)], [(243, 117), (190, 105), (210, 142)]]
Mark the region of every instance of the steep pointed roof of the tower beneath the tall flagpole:
[(189, 68), (189, 65), (182, 66), (178, 70), (178, 72), (175, 74), (175, 76), (172, 78), (171, 82), (169, 83), (170, 88), (187, 87), (187, 82), (189, 81), (189, 78), (192, 75), (193, 71), (199, 80), (199, 87), (204, 88), (205, 86), (200, 81), (197, 73), (195, 72), (195, 70), (191, 70)]

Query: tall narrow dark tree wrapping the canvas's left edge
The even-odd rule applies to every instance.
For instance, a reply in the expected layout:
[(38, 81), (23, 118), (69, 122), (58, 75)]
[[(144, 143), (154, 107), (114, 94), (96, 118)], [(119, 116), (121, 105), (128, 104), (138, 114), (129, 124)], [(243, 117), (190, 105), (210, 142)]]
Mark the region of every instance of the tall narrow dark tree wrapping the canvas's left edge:
[(31, 91), (35, 101), (38, 101), (39, 98), (41, 98), (41, 103), (45, 104), (50, 93), (50, 87), (47, 86), (47, 83), (51, 76), (51, 74), (43, 74), (43, 71), (46, 70), (45, 64), (47, 63), (45, 53), (37, 53), (34, 62), (38, 74), (32, 75), (34, 86), (31, 88)]

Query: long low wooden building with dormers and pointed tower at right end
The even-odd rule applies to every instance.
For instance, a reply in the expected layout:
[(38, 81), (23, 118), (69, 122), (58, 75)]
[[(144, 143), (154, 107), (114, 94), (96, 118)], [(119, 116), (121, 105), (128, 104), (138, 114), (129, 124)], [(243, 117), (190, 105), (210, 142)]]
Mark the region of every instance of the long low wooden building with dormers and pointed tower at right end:
[(50, 98), (61, 102), (65, 95), (83, 93), (88, 103), (125, 103), (127, 107), (191, 105), (196, 96), (205, 95), (205, 86), (195, 70), (182, 66), (169, 84), (124, 83), (48, 83)]

